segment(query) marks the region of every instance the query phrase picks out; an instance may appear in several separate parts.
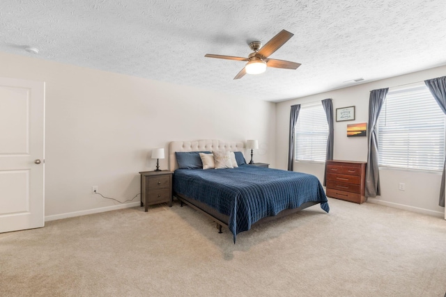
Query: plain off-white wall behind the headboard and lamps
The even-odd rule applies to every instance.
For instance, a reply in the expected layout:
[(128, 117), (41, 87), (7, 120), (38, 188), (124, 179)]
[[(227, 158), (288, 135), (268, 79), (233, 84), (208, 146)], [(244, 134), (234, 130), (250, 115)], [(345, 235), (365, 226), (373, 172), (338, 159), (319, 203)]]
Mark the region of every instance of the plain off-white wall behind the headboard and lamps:
[(0, 64), (1, 77), (46, 82), (47, 219), (118, 205), (92, 195), (93, 185), (108, 197), (133, 198), (138, 172), (155, 169), (151, 149), (167, 152), (169, 141), (258, 139), (255, 161), (274, 166), (270, 102), (4, 53)]

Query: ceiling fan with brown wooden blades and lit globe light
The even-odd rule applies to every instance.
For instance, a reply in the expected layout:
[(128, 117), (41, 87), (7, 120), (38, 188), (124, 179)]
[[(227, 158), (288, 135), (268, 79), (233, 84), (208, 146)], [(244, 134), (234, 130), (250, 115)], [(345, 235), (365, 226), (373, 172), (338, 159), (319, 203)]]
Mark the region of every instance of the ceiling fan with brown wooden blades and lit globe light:
[(222, 56), (214, 54), (206, 54), (208, 58), (220, 58), (226, 60), (247, 61), (245, 67), (238, 72), (234, 79), (241, 79), (245, 74), (261, 74), (265, 72), (266, 67), (284, 68), (284, 69), (298, 69), (300, 63), (291, 61), (283, 61), (277, 59), (268, 58), (272, 53), (277, 51), (282, 45), (285, 44), (290, 38), (293, 37), (293, 33), (282, 30), (270, 41), (266, 42), (266, 45), (262, 47), (262, 42), (253, 41), (249, 43), (249, 47), (253, 50), (247, 58), (235, 57), (235, 56)]

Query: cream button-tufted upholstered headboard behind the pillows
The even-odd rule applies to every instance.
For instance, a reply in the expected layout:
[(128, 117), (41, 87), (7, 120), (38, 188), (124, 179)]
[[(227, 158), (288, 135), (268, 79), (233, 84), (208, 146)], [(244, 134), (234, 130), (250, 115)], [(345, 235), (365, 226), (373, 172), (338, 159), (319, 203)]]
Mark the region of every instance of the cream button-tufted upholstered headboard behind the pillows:
[(172, 141), (169, 143), (169, 170), (178, 169), (175, 152), (197, 152), (230, 150), (231, 152), (243, 152), (245, 143), (218, 141), (215, 139), (203, 139), (201, 141)]

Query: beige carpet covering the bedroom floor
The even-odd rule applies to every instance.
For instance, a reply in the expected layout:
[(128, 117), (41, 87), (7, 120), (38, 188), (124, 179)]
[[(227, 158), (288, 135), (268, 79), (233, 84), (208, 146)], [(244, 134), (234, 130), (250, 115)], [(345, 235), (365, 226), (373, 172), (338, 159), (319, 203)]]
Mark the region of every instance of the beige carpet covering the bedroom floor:
[(445, 296), (445, 220), (329, 203), (236, 245), (178, 203), (0, 234), (0, 296)]

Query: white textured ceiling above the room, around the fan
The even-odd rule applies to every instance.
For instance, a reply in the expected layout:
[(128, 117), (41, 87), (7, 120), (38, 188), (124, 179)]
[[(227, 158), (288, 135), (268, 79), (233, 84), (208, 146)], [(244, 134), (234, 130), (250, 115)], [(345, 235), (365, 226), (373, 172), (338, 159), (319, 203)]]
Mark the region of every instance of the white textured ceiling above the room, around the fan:
[[(252, 40), (295, 35), (233, 77)], [(40, 53), (29, 54), (26, 45)], [(272, 102), (446, 64), (445, 0), (2, 0), (0, 51)]]

